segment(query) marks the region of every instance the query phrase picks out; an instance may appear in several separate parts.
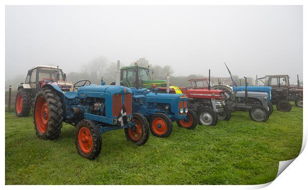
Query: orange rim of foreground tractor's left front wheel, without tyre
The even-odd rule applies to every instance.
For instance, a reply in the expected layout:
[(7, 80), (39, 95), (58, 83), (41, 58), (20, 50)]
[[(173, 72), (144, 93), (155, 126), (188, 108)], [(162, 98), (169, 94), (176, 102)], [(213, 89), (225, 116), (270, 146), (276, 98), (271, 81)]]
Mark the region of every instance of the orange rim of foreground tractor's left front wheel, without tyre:
[(78, 132), (78, 143), (82, 152), (89, 153), (93, 147), (93, 138), (87, 127), (81, 127)]

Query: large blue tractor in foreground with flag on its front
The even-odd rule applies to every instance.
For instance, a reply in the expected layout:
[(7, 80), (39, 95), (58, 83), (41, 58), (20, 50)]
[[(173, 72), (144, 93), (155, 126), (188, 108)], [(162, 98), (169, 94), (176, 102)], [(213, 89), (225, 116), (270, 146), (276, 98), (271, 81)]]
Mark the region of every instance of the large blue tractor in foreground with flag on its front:
[[(80, 84), (80, 85), (79, 85)], [(147, 119), (132, 113), (132, 91), (124, 86), (91, 84), (82, 80), (77, 92), (63, 92), (57, 85), (42, 86), (34, 103), (34, 125), (40, 139), (59, 137), (62, 122), (76, 126), (77, 152), (95, 159), (101, 151), (101, 133), (124, 128), (127, 140), (137, 145), (147, 142)]]

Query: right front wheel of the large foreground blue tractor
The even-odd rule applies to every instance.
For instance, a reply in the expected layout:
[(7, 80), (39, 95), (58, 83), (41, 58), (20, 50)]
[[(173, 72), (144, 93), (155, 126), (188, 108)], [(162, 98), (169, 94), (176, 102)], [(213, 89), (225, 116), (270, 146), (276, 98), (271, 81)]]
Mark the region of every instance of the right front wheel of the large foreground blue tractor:
[(135, 127), (125, 128), (125, 136), (129, 141), (134, 142), (136, 145), (144, 145), (150, 136), (149, 123), (147, 119), (139, 113), (134, 114)]

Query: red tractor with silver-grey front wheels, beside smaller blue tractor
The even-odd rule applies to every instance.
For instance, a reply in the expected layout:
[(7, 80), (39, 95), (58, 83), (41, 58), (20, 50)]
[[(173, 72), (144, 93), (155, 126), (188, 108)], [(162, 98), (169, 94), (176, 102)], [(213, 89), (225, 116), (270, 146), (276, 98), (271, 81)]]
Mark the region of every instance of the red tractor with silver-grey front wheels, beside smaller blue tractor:
[[(209, 71), (209, 74), (210, 71)], [(209, 76), (211, 77), (211, 76)], [(225, 92), (222, 90), (213, 90), (207, 84), (207, 79), (189, 79), (191, 86), (170, 87), (169, 93), (181, 93), (188, 96), (188, 108), (197, 113), (198, 123), (200, 125), (215, 126), (218, 119), (229, 121), (231, 111), (226, 106)], [(166, 88), (158, 88), (159, 92), (166, 93)]]

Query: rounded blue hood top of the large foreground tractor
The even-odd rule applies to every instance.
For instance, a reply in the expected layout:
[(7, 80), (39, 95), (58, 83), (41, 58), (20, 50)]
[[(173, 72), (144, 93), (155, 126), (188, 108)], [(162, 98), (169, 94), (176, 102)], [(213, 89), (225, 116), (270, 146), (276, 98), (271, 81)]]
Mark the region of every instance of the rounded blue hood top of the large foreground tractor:
[(79, 98), (97, 97), (104, 98), (106, 95), (110, 97), (114, 94), (132, 94), (132, 90), (124, 86), (115, 85), (97, 85), (91, 84), (88, 86), (81, 86), (77, 90)]

